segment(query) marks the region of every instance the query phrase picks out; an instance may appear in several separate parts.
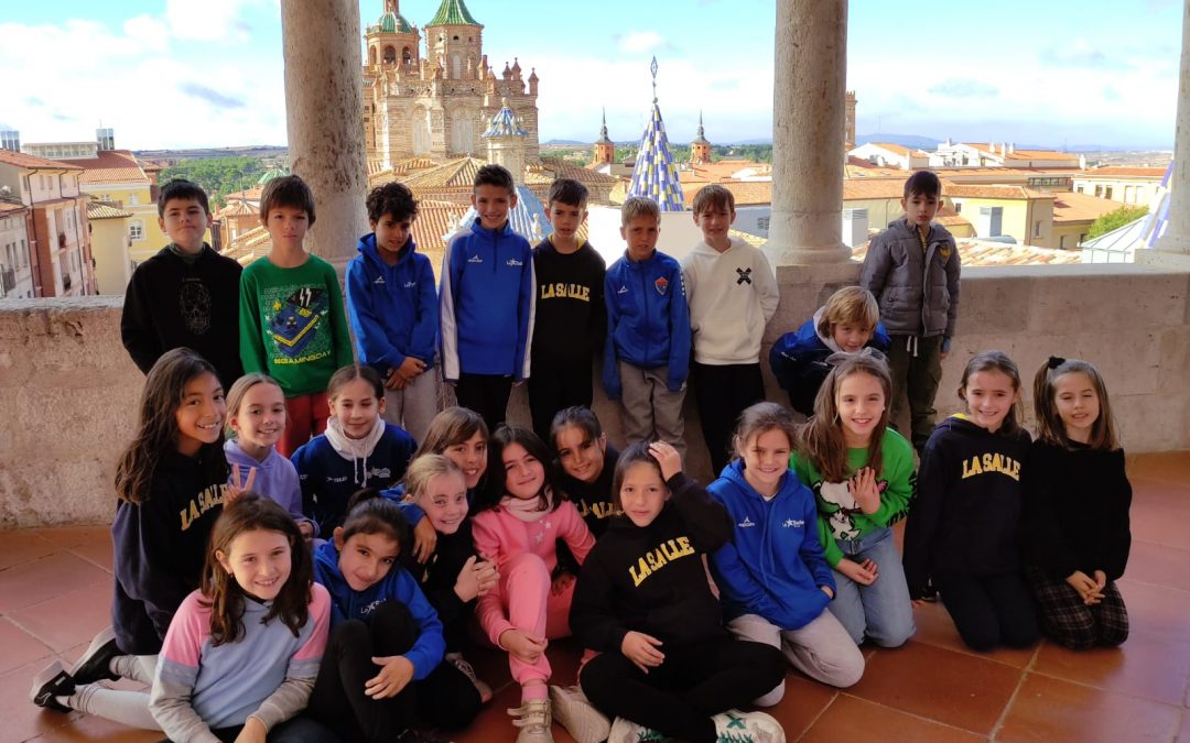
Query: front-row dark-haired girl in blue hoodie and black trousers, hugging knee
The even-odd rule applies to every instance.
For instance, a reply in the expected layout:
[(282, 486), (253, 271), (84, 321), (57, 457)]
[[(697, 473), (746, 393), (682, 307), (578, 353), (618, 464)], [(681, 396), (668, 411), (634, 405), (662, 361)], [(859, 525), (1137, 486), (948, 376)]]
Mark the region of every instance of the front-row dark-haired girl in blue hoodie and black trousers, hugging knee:
[(362, 490), (314, 553), (314, 579), (331, 592), (332, 629), (311, 714), (346, 741), (406, 739), (415, 722), (456, 728), (480, 711), (466, 676), (440, 662), (441, 623), (400, 566), (406, 534), (396, 505)]

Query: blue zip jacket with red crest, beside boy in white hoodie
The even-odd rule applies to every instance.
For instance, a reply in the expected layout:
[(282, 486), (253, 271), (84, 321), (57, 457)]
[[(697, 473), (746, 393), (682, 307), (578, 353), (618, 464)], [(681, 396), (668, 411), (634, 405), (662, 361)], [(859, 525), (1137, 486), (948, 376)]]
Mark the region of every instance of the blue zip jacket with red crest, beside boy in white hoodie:
[(677, 392), (690, 369), (690, 308), (685, 303), (682, 266), (653, 251), (644, 260), (624, 257), (603, 279), (607, 301), (607, 340), (603, 346), (603, 390), (620, 399), (620, 367), (668, 366), (668, 386)]

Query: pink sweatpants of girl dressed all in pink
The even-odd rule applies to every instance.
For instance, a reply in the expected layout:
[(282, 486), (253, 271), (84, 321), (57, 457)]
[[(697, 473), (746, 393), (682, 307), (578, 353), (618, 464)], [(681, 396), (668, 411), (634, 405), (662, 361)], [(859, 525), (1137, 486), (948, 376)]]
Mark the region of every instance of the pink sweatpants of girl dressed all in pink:
[[(550, 568), (533, 553), (521, 553), (500, 571), (500, 594), (513, 626), (533, 637), (557, 640), (570, 635), (570, 600), (575, 583), (555, 596), (550, 592)], [(527, 681), (550, 680), (550, 661), (541, 654), (536, 663), (526, 663), (512, 653), (508, 668), (513, 679), (525, 686)]]

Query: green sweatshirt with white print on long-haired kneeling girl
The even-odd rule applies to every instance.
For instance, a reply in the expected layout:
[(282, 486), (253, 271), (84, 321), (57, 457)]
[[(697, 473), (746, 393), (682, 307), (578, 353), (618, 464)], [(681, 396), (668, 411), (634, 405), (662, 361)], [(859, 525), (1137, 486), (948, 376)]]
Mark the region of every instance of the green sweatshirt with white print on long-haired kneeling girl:
[[(876, 477), (876, 484), (881, 489), (881, 508), (871, 515), (859, 510), (846, 483), (823, 483), (818, 468), (800, 452), (794, 452), (789, 458), (789, 467), (814, 491), (819, 510), (819, 540), (831, 567), (839, 565), (844, 556), (838, 540), (858, 540), (896, 523), (909, 512), (909, 500), (917, 486), (913, 447), (901, 434), (887, 428), (881, 458), (884, 460), (883, 472)], [(848, 474), (866, 465), (866, 447), (847, 449)]]

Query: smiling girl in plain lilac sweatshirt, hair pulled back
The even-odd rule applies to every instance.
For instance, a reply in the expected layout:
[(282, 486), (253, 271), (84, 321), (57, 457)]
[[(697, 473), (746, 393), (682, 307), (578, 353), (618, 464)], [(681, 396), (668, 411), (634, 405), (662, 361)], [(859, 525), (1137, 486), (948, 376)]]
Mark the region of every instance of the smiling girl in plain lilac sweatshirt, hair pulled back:
[(273, 377), (255, 372), (231, 385), (227, 395), (227, 433), (234, 439), (224, 443), (232, 465), (232, 485), (271, 498), (286, 509), (301, 535), (311, 540), (318, 524), (301, 510), (301, 485), (293, 462), (276, 451), (286, 430), (286, 396)]

